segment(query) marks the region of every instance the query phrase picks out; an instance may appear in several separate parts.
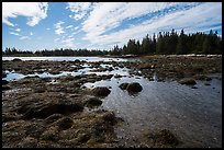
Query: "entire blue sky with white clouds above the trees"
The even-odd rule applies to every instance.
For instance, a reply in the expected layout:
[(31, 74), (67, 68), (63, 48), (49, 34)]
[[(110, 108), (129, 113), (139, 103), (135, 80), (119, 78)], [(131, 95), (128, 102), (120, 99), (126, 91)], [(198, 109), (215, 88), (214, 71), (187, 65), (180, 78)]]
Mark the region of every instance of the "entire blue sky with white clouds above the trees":
[(2, 2), (2, 49), (109, 50), (171, 28), (222, 35), (222, 2)]

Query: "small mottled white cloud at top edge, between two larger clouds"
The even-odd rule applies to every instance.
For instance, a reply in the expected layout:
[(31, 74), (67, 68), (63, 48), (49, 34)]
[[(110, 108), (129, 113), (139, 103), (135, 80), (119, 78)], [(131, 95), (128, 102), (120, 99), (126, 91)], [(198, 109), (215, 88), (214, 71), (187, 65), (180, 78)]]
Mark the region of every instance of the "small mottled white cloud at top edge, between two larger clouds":
[(66, 9), (69, 9), (75, 13), (74, 16), (69, 15), (69, 18), (80, 20), (87, 15), (89, 10), (91, 10), (91, 2), (68, 2)]

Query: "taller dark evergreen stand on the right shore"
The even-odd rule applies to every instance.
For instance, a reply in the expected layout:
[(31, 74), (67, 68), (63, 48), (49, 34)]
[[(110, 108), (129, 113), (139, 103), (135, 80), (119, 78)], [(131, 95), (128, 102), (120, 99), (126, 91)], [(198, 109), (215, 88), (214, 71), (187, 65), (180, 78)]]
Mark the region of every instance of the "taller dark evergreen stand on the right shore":
[[(157, 37), (157, 38), (156, 38)], [(210, 31), (209, 34), (197, 32), (184, 34), (181, 30), (178, 34), (171, 32), (159, 32), (152, 37), (146, 35), (142, 42), (130, 39), (126, 45), (117, 45), (110, 51), (111, 55), (186, 55), (186, 54), (222, 54), (222, 39), (217, 32)]]

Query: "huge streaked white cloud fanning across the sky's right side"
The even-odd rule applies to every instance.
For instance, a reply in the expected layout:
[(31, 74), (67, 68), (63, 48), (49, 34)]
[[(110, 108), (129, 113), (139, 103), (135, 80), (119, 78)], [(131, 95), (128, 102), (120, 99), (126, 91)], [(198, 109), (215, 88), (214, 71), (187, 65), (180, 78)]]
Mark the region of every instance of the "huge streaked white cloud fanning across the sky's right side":
[[(173, 11), (169, 10), (163, 13), (164, 9), (171, 5), (175, 7)], [(184, 7), (189, 8), (182, 9)], [(144, 14), (155, 14), (158, 10), (160, 13), (150, 20), (107, 33), (122, 25), (123, 21)], [(171, 31), (171, 28), (184, 28), (186, 32), (209, 30), (211, 24), (222, 23), (221, 14), (221, 3), (99, 3), (83, 22), (82, 30), (87, 34), (82, 39), (88, 39), (91, 44), (99, 46), (114, 45), (114, 43), (122, 46), (130, 38), (142, 39), (146, 34), (153, 35), (159, 31)]]

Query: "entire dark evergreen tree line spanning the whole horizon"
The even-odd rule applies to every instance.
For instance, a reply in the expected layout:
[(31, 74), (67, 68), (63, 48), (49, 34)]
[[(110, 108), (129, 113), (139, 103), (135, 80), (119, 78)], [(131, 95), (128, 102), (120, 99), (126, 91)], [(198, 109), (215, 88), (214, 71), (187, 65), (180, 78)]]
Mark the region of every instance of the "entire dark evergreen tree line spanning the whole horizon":
[(3, 56), (103, 56), (103, 55), (184, 55), (184, 54), (222, 54), (222, 38), (217, 32), (210, 31), (209, 34), (197, 32), (195, 34), (178, 34), (171, 32), (148, 34), (142, 39), (130, 39), (123, 47), (115, 45), (111, 50), (88, 50), (88, 49), (54, 49), (21, 51), (7, 47), (2, 50)]

